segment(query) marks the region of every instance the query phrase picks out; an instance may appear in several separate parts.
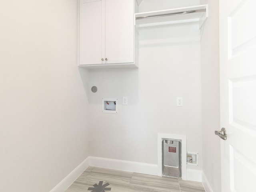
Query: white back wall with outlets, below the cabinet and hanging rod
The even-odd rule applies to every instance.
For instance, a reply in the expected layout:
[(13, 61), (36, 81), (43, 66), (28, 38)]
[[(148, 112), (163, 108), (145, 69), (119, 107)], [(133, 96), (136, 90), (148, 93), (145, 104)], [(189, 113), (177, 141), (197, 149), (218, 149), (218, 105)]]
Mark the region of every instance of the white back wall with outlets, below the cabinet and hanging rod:
[[(90, 88), (98, 87), (89, 94), (91, 156), (157, 164), (157, 134), (166, 133), (186, 135), (187, 150), (201, 157), (198, 24), (141, 28), (139, 44), (138, 69), (90, 71)], [(102, 113), (102, 98), (117, 98), (118, 114)]]

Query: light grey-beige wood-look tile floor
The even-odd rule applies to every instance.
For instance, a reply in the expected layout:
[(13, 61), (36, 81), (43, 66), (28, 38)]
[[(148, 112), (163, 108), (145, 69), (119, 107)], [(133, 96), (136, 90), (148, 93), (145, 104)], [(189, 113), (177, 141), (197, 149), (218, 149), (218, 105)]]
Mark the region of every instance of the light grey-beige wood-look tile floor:
[[(103, 181), (103, 183), (101, 182)], [(105, 190), (88, 190), (99, 184)], [(109, 185), (108, 185), (109, 184)], [(111, 188), (111, 189), (110, 189)], [(88, 167), (66, 192), (205, 192), (202, 183)]]

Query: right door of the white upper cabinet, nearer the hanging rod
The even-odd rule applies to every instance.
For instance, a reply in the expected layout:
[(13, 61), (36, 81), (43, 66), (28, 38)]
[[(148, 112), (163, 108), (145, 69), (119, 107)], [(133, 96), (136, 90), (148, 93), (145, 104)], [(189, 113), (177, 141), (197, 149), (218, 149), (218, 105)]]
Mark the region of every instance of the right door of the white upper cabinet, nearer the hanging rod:
[(134, 0), (105, 0), (106, 63), (134, 62)]

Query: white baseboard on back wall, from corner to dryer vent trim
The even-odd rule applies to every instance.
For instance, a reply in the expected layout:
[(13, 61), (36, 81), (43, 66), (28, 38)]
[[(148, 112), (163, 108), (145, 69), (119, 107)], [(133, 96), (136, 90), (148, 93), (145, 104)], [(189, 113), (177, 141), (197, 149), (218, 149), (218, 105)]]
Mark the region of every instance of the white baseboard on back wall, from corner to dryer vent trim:
[(158, 165), (100, 158), (100, 157), (90, 157), (90, 166), (101, 167), (106, 169), (115, 169), (129, 172), (136, 172), (148, 175), (157, 175)]

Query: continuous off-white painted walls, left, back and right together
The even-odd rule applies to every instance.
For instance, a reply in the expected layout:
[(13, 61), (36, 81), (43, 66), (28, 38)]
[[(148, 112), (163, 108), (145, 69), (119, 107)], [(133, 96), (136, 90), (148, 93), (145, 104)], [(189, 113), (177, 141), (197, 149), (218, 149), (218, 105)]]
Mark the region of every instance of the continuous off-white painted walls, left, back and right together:
[[(140, 11), (199, 4), (155, 2)], [(200, 157), (188, 168), (219, 192), (218, 2), (201, 3), (201, 42), (193, 23), (141, 28), (139, 69), (88, 72), (77, 67), (76, 0), (0, 0), (0, 191), (50, 191), (89, 155), (157, 164), (166, 133), (187, 136)], [(102, 113), (102, 98), (118, 98), (118, 114)]]

